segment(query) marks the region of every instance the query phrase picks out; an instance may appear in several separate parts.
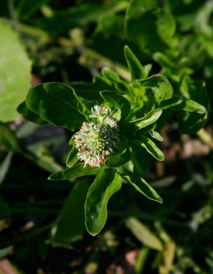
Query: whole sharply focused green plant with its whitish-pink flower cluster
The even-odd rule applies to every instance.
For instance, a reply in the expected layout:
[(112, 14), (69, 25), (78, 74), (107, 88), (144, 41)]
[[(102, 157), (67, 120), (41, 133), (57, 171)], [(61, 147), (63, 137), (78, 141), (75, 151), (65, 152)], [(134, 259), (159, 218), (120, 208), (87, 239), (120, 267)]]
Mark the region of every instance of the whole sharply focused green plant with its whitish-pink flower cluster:
[[(34, 86), (18, 106), (18, 112), (29, 121), (71, 131), (81, 127), (70, 140), (68, 169), (53, 173), (49, 179), (96, 175), (85, 201), (85, 225), (92, 235), (104, 227), (107, 203), (123, 183), (162, 203), (162, 198), (142, 178), (143, 166), (144, 161), (146, 166), (152, 164), (153, 158), (164, 160), (158, 148), (162, 141), (159, 131), (173, 112), (180, 112), (180, 117), (184, 113), (199, 115), (202, 121), (203, 116), (208, 116), (202, 100), (193, 101), (181, 92), (173, 94), (165, 76), (149, 76), (150, 64), (142, 66), (127, 46), (124, 52), (131, 82), (104, 68), (102, 76), (95, 77), (91, 84), (52, 82)], [(203, 84), (195, 85), (191, 80), (190, 87), (205, 93)], [(187, 131), (187, 120), (182, 118), (180, 123)], [(146, 153), (153, 157), (146, 158)]]

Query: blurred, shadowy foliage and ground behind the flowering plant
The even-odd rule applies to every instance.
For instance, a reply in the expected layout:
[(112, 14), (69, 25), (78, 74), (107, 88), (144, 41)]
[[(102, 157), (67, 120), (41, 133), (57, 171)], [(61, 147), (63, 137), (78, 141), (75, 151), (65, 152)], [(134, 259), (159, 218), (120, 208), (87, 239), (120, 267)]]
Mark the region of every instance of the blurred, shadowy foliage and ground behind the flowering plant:
[[(0, 272), (213, 273), (212, 11), (212, 0), (1, 1)], [(144, 71), (139, 63), (127, 66), (125, 45)], [(46, 179), (65, 168), (68, 129), (84, 119), (74, 124), (68, 112), (66, 129), (46, 125), (48, 116), (31, 111), (36, 101), (30, 109), (23, 101), (30, 82), (62, 82), (97, 100), (100, 90), (123, 90), (141, 73), (167, 77), (175, 98), (175, 108), (161, 105), (156, 129), (165, 162), (153, 162), (143, 148), (132, 155), (143, 162), (135, 171), (164, 203), (124, 184), (109, 200), (104, 229), (92, 237), (83, 212), (94, 175)], [(197, 113), (188, 112), (192, 105), (183, 98), (207, 111), (193, 105)], [(59, 115), (51, 123), (61, 125)]]

